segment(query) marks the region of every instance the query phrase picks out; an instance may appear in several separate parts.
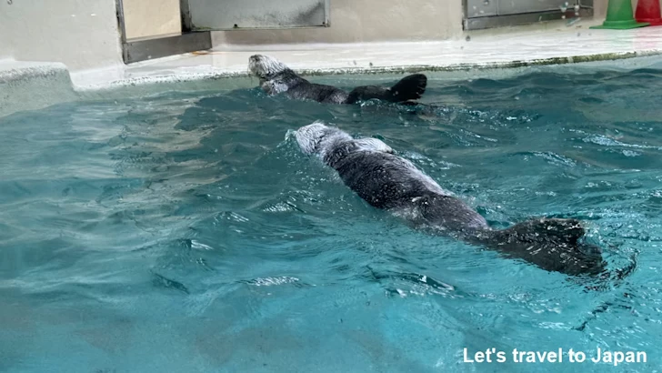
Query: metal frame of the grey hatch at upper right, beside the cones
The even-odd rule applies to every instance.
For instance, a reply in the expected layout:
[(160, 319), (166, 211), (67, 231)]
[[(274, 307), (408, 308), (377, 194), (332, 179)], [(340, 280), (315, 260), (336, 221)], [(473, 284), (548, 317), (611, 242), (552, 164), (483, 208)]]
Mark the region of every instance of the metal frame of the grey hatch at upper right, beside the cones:
[[(590, 17), (593, 16), (593, 0), (577, 0), (579, 4), (579, 16), (580, 17)], [(564, 14), (559, 11), (547, 11), (547, 12), (532, 12), (532, 13), (523, 13), (519, 15), (491, 15), (483, 17), (467, 17), (467, 0), (462, 0), (463, 5), (463, 22), (465, 30), (481, 30), (486, 28), (495, 28), (508, 25), (530, 25), (537, 22), (544, 21), (554, 21), (558, 19), (563, 19), (563, 16), (566, 15), (566, 19), (572, 19), (575, 17), (575, 10), (572, 7), (568, 7), (567, 12)]]

